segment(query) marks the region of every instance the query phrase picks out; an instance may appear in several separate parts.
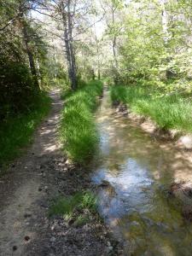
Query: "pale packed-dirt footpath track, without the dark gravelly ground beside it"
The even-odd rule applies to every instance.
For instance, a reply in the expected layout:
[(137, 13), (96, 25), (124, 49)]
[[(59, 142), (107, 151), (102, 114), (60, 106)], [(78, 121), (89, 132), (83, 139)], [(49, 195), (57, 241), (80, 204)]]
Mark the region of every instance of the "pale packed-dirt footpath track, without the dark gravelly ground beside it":
[[(40, 210), (38, 202), (43, 200), (47, 189), (42, 187), (43, 166), (47, 160), (60, 154), (56, 125), (62, 102), (59, 91), (54, 90), (50, 96), (53, 100), (51, 113), (36, 132), (32, 148), (11, 166), (9, 174), (0, 181), (0, 255), (12, 255), (14, 250), (14, 255), (24, 255), (26, 244), (36, 236), (32, 225), (36, 225), (35, 219)], [(40, 211), (44, 215), (44, 207)]]

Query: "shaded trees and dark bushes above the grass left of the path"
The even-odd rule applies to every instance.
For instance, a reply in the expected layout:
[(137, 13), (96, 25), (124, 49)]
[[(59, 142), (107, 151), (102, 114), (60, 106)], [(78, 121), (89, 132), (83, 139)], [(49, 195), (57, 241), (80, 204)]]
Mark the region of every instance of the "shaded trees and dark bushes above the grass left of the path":
[[(32, 3), (33, 2), (33, 3)], [(43, 82), (46, 44), (27, 15), (34, 1), (3, 2), (0, 11), (0, 119), (29, 113)], [(22, 9), (22, 12), (20, 11)], [(12, 20), (12, 22), (11, 22)], [(32, 67), (32, 64), (34, 67)], [(43, 83), (41, 83), (43, 87)]]

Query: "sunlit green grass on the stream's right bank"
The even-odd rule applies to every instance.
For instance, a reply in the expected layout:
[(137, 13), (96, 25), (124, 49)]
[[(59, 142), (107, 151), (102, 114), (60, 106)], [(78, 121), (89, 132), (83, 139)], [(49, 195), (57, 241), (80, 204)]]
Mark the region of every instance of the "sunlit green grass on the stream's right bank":
[(163, 94), (152, 86), (113, 86), (113, 102), (128, 104), (131, 111), (150, 117), (160, 128), (192, 132), (190, 93)]

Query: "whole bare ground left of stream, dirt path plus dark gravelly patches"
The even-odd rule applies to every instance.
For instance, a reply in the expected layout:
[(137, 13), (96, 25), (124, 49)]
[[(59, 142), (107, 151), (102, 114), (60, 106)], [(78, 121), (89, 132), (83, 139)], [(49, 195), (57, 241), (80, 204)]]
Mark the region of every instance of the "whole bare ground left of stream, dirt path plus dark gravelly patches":
[(51, 111), (32, 147), (0, 179), (0, 255), (121, 255), (94, 214), (81, 226), (59, 216), (49, 218), (53, 199), (91, 188), (89, 173), (70, 166), (61, 152), (57, 125), (63, 103), (58, 90), (50, 96)]

